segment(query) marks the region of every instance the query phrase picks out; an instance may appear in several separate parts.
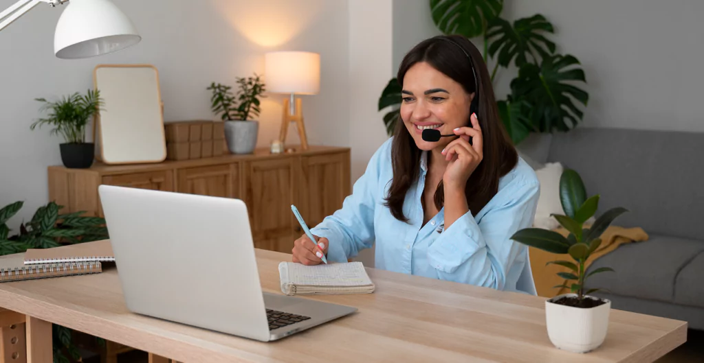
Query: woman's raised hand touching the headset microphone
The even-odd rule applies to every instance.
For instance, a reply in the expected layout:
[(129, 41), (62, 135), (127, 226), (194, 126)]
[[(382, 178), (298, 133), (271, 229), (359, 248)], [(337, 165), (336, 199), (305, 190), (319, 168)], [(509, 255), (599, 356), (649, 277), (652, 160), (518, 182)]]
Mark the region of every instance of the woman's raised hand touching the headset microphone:
[[(450, 161), (442, 177), (445, 187), (465, 190), (467, 180), (484, 157), (482, 152), (482, 128), (476, 114), (470, 117), (472, 127), (455, 128), (455, 135), (460, 136), (445, 147), (442, 154)], [(470, 138), (472, 144), (470, 145)]]

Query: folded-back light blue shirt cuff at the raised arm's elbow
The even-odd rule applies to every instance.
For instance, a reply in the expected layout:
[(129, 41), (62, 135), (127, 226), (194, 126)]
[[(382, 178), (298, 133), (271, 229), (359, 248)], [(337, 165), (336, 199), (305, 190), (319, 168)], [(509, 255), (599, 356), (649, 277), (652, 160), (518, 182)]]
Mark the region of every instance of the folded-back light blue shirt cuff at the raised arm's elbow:
[(482, 239), (479, 225), (472, 213), (468, 211), (455, 220), (455, 223), (444, 230), (429, 246), (428, 262), (436, 270), (451, 274), (479, 249), (484, 248), (486, 243)]

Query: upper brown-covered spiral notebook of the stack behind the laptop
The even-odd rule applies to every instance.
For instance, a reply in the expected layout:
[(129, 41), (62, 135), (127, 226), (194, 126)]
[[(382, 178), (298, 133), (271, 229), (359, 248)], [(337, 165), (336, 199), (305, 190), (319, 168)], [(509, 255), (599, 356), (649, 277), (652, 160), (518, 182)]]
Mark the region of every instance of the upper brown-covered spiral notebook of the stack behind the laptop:
[(110, 240), (68, 244), (53, 249), (28, 249), (25, 252), (25, 265), (86, 262), (115, 262)]

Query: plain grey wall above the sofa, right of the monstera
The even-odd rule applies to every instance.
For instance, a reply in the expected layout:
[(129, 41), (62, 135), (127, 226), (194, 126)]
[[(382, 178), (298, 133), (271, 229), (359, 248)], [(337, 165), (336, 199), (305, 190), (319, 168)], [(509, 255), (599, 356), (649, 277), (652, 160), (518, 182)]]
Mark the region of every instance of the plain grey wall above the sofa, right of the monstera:
[(704, 1), (507, 1), (541, 13), (584, 66), (584, 126), (704, 132)]

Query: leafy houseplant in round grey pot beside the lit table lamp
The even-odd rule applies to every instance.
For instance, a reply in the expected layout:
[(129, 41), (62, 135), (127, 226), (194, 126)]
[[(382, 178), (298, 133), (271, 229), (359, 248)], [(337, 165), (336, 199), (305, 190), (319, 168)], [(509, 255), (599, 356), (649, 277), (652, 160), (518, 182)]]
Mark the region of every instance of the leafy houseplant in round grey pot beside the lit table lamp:
[(265, 97), (265, 84), (257, 74), (254, 77), (237, 77), (237, 94), (232, 94), (232, 86), (211, 83), (208, 90), (213, 91), (210, 98), (211, 108), (225, 121), (225, 140), (227, 148), (233, 154), (249, 154), (257, 144), (260, 100)]

